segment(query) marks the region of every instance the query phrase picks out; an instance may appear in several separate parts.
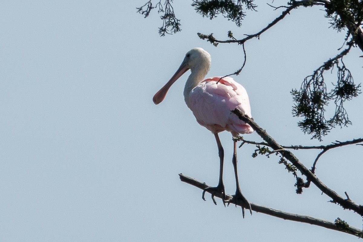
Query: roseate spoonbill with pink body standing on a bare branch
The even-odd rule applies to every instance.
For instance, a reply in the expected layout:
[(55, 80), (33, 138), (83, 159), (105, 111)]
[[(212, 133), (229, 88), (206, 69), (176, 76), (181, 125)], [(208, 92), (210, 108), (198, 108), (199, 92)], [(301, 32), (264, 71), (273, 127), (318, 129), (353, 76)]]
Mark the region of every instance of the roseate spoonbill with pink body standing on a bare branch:
[[(251, 117), (251, 108), (246, 90), (239, 83), (230, 77), (212, 77), (203, 80), (211, 66), (211, 55), (202, 48), (193, 48), (187, 54), (181, 63), (179, 69), (172, 78), (160, 89), (152, 99), (155, 104), (162, 102), (171, 85), (189, 69), (189, 75), (184, 88), (184, 99), (187, 106), (192, 110), (197, 122), (212, 131), (214, 134), (219, 152), (220, 170), (219, 183), (216, 187), (208, 187), (203, 191), (203, 199), (206, 191), (218, 191), (224, 194), (223, 203), (226, 201), (225, 189), (223, 184), (223, 158), (224, 150), (219, 139), (218, 133), (229, 131), (233, 137), (238, 134), (250, 134), (253, 132), (252, 127), (238, 119), (231, 110), (238, 108), (244, 114)], [(252, 214), (251, 205), (243, 196), (238, 183), (237, 174), (237, 152), (236, 143), (233, 141), (233, 167), (236, 177), (236, 194), (232, 200), (242, 201), (242, 213), (244, 217), (244, 208), (249, 209)], [(213, 202), (216, 204), (212, 194)], [(204, 199), (205, 200), (205, 199)]]

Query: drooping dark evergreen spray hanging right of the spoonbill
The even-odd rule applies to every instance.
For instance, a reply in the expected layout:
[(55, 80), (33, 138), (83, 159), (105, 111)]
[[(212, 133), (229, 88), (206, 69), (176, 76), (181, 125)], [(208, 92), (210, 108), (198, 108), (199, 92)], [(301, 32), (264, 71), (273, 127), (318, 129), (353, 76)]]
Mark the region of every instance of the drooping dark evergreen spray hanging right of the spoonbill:
[[(351, 124), (343, 103), (358, 96), (360, 84), (354, 84), (351, 73), (344, 65), (342, 57), (348, 54), (353, 44), (353, 41), (348, 42), (347, 49), (323, 63), (312, 75), (307, 76), (299, 91), (296, 89), (291, 91), (295, 102), (293, 115), (303, 117), (303, 120), (298, 122), (298, 126), (304, 133), (313, 134), (312, 139), (317, 138), (321, 141), (322, 136), (327, 135), (331, 128), (337, 125), (342, 127), (342, 125)], [(342, 66), (339, 64), (339, 59), (343, 64)], [(327, 91), (324, 72), (333, 67), (337, 68), (338, 81), (333, 90)], [(326, 119), (325, 107), (333, 99), (336, 106), (335, 114), (332, 118)]]

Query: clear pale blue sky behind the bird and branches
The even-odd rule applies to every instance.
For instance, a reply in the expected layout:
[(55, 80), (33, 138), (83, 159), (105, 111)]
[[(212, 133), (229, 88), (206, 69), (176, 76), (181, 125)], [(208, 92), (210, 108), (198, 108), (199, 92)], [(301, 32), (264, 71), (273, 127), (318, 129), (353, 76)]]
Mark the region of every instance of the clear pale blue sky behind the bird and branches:
[[(0, 240), (12, 241), (353, 241), (322, 227), (215, 206), (179, 173), (216, 185), (219, 159), (213, 135), (184, 103), (188, 73), (156, 106), (152, 96), (193, 47), (211, 53), (208, 76), (237, 70), (241, 46), (215, 48), (196, 33), (225, 39), (255, 33), (280, 14), (265, 3), (241, 28), (223, 17), (196, 15), (175, 1), (181, 33), (159, 37), (161, 21), (136, 13), (138, 1), (7, 1), (0, 8)], [(270, 2), (268, 2), (270, 3)], [(274, 1), (285, 5), (286, 1)], [(347, 103), (353, 126), (320, 143), (291, 116), (289, 91), (338, 53), (345, 33), (328, 28), (324, 12), (294, 10), (246, 43), (247, 63), (234, 79), (249, 93), (254, 120), (281, 144), (317, 145), (360, 138), (362, 95)], [(362, 82), (362, 55), (345, 63)], [(235, 190), (231, 135), (225, 149), (226, 192)], [(246, 139), (260, 141), (257, 134)], [(295, 180), (278, 158), (238, 150), (241, 189), (250, 202), (362, 228), (362, 218), (327, 201), (312, 186), (295, 194)], [(362, 146), (327, 152), (318, 177), (340, 195), (363, 203)], [(311, 167), (318, 151), (295, 154)]]

